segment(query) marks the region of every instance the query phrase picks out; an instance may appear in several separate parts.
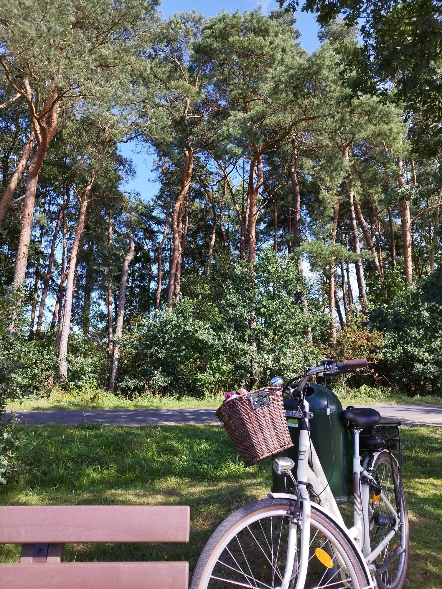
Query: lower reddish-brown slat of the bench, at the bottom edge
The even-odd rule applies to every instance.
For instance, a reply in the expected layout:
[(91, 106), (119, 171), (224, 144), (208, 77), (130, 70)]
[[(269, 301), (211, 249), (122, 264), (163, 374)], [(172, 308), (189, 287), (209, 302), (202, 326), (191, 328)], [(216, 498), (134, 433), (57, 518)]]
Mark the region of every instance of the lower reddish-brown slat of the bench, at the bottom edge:
[(188, 562), (0, 564), (0, 589), (187, 589)]

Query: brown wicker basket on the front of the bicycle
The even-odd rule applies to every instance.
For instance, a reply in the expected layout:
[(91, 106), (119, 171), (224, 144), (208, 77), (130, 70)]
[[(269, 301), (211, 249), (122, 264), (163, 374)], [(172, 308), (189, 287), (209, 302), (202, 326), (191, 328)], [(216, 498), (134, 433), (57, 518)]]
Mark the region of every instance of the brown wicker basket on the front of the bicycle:
[(217, 409), (216, 416), (244, 466), (252, 466), (293, 446), (281, 393), (281, 388), (272, 386), (258, 389), (228, 399)]

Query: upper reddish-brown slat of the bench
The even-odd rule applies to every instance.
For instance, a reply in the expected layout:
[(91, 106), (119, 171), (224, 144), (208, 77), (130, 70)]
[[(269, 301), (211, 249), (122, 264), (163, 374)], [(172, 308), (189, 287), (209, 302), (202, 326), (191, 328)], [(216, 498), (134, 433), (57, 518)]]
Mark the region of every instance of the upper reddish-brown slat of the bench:
[(188, 542), (187, 505), (0, 507), (0, 544)]

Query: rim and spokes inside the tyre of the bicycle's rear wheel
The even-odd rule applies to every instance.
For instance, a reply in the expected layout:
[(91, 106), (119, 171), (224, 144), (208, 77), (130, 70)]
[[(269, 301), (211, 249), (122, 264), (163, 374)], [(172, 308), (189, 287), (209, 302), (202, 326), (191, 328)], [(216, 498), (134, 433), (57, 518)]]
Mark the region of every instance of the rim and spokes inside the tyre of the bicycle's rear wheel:
[[(393, 478), (394, 477), (394, 478)], [(381, 460), (375, 468), (374, 478), (377, 478), (378, 483), (388, 499), (390, 504), (395, 507), (396, 499), (394, 494), (394, 480), (397, 485), (397, 475), (391, 469), (390, 458)], [(382, 516), (390, 516), (391, 511), (380, 497), (374, 501), (375, 492), (370, 492), (370, 543), (371, 549), (374, 550), (385, 536), (390, 532), (391, 528), (388, 526), (379, 525), (375, 518)], [(402, 547), (406, 550), (407, 537), (405, 532), (404, 510), (401, 509), (400, 525), (397, 532), (394, 534), (387, 546), (381, 551), (381, 554), (374, 560), (377, 570), (392, 556), (397, 547)], [(385, 571), (378, 573), (378, 582), (381, 581), (384, 587), (393, 587), (397, 583), (398, 578), (403, 570), (405, 552), (398, 555), (391, 561), (390, 565)]]

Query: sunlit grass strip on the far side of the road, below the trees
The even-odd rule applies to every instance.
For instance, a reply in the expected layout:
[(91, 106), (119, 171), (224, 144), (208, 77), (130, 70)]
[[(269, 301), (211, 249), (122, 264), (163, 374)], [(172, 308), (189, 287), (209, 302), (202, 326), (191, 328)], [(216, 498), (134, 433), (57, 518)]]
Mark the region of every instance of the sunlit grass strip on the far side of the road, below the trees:
[[(371, 403), (442, 403), (442, 397), (398, 395), (387, 389), (339, 389), (334, 390), (341, 399), (342, 405), (370, 405)], [(22, 403), (15, 401), (8, 405), (8, 409), (34, 411), (37, 409), (166, 409), (166, 408), (194, 408), (219, 407), (224, 397), (211, 396), (207, 399), (186, 397), (151, 397), (139, 396), (127, 400), (124, 397), (103, 393), (98, 399), (91, 401), (87, 396), (66, 395), (60, 391), (51, 393), (50, 397), (25, 399)]]

